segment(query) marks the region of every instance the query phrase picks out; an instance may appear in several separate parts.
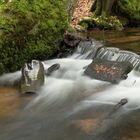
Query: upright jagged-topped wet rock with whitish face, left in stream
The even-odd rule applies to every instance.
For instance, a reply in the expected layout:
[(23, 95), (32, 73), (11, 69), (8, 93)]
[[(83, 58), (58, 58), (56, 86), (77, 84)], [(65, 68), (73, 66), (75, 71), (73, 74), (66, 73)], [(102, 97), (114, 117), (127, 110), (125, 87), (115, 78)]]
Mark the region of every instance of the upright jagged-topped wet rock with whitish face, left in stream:
[(22, 67), (21, 93), (36, 93), (44, 84), (44, 66), (40, 61), (33, 60), (31, 64), (24, 64)]

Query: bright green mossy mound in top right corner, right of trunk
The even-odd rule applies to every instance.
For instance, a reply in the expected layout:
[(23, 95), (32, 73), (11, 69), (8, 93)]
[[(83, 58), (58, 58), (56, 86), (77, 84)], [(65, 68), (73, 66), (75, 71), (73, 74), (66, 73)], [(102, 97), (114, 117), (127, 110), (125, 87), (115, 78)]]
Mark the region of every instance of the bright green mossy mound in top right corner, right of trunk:
[(139, 0), (119, 0), (119, 10), (130, 22), (140, 23), (140, 1)]

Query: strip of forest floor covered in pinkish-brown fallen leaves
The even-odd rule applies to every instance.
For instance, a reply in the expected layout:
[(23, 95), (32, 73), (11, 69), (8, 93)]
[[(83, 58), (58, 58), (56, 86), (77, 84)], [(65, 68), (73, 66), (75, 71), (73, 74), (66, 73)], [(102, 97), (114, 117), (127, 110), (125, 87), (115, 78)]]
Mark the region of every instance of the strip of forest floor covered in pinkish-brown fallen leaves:
[(71, 25), (76, 27), (79, 21), (90, 14), (90, 9), (93, 4), (93, 0), (79, 0), (74, 10)]

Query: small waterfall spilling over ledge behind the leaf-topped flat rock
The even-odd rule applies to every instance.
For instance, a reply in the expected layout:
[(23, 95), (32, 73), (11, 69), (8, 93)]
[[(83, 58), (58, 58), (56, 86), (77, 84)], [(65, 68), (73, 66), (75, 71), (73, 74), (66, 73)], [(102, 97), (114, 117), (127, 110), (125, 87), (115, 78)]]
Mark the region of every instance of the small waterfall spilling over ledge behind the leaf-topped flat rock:
[(100, 58), (118, 62), (130, 62), (134, 70), (140, 71), (140, 56), (136, 53), (120, 50), (115, 47), (104, 47), (103, 43), (96, 40), (81, 41), (76, 52), (71, 58), (94, 59)]

